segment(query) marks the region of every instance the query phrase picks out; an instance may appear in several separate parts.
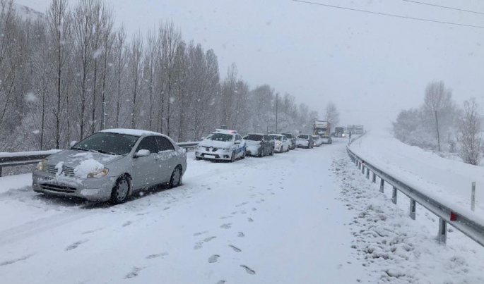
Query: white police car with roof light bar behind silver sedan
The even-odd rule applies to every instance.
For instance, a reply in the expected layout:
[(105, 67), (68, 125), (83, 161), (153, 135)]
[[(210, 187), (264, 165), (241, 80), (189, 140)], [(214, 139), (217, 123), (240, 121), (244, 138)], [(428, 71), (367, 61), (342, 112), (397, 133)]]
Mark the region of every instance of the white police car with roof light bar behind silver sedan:
[(208, 139), (202, 140), (195, 149), (195, 159), (209, 159), (234, 162), (244, 159), (246, 144), (235, 130), (218, 129)]

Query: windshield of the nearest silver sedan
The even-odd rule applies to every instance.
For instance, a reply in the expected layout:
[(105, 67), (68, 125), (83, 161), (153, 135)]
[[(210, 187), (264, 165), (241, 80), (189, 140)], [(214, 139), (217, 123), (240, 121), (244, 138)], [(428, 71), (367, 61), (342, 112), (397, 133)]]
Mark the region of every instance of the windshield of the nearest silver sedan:
[(98, 132), (78, 142), (71, 149), (124, 155), (131, 152), (138, 138), (134, 135)]

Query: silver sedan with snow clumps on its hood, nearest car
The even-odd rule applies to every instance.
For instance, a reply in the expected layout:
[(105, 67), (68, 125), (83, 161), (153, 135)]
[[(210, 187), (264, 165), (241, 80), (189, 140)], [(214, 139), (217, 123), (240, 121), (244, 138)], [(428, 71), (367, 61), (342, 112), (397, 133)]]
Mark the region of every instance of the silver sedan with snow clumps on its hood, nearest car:
[(118, 204), (151, 185), (177, 187), (185, 171), (187, 154), (170, 137), (110, 129), (43, 159), (32, 179), (35, 192)]

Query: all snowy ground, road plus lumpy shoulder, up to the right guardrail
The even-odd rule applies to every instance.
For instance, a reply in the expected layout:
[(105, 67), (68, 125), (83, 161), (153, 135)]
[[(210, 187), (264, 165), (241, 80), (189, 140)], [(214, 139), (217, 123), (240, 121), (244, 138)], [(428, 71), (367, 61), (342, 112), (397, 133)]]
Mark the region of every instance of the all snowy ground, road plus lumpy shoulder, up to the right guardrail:
[(117, 206), (0, 178), (0, 282), (483, 283), (484, 249), (459, 233), (437, 245), (437, 218), (406, 217), (345, 142), (235, 163), (190, 155), (184, 185)]

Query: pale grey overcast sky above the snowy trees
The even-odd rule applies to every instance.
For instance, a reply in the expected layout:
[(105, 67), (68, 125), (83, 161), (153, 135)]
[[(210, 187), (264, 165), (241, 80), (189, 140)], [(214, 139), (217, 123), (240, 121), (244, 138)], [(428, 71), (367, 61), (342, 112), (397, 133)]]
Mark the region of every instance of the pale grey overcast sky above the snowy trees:
[[(403, 0), (312, 0), (484, 27), (484, 15)], [(483, 0), (421, 0), (484, 13)], [(77, 1), (72, 0), (71, 5)], [(341, 124), (389, 127), (401, 109), (423, 102), (425, 85), (444, 80), (461, 104), (484, 106), (484, 28), (377, 16), (291, 0), (107, 0), (129, 33), (173, 20), (184, 39), (214, 49), (220, 73), (235, 62), (252, 87), (269, 84)], [(16, 0), (45, 11), (49, 0)], [(484, 108), (481, 107), (481, 110)]]

